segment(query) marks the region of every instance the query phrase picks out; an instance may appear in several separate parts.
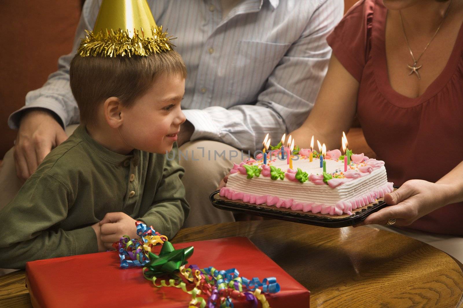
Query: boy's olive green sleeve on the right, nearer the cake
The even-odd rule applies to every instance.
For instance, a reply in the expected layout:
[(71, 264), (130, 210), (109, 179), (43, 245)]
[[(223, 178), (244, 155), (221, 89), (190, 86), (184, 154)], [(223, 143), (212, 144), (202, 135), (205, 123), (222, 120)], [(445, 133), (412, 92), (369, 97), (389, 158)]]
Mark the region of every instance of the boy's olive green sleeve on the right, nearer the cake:
[[(172, 159), (173, 157), (175, 159)], [(137, 220), (153, 226), (157, 232), (170, 239), (180, 230), (188, 216), (190, 206), (185, 199), (185, 187), (181, 182), (185, 170), (177, 163), (176, 145), (164, 159), (163, 178), (157, 187), (153, 203)]]

